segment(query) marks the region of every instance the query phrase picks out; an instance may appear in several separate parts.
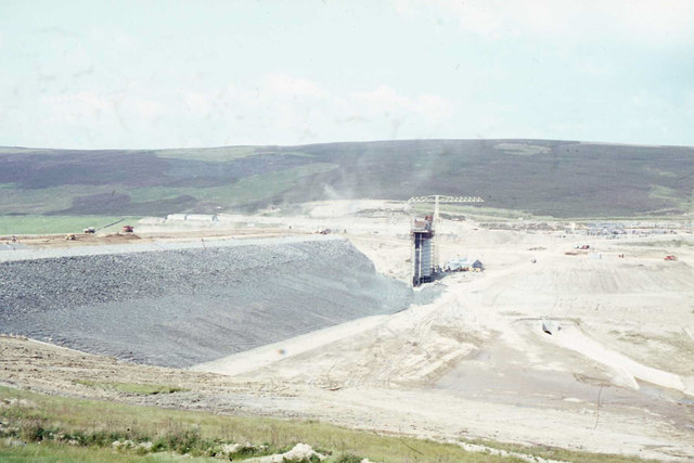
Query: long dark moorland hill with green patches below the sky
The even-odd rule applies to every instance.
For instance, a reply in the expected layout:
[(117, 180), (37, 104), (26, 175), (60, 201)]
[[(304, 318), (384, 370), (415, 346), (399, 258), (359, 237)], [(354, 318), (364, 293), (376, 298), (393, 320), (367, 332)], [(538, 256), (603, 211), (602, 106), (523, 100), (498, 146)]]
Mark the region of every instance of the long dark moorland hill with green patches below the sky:
[(0, 147), (0, 215), (166, 215), (471, 194), (554, 217), (694, 211), (694, 149), (416, 140), (160, 151)]

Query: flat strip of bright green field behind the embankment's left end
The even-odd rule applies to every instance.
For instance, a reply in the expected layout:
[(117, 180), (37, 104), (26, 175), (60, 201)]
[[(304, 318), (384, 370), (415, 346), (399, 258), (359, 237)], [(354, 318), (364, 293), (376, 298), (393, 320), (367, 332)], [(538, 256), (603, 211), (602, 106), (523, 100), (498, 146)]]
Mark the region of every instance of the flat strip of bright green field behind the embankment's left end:
[(115, 232), (129, 222), (134, 224), (138, 217), (116, 216), (1, 216), (0, 235), (13, 234), (49, 234), (49, 233), (81, 233), (88, 227), (97, 229), (113, 223), (119, 219), (124, 222), (99, 230), (99, 232)]

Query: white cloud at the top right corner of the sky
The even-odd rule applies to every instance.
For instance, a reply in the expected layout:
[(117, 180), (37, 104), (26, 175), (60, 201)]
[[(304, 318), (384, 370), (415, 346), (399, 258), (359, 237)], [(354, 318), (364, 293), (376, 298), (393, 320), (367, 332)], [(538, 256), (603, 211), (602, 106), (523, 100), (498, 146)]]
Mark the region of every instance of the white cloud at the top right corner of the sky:
[(453, 20), (488, 38), (691, 43), (691, 0), (394, 0), (409, 17)]

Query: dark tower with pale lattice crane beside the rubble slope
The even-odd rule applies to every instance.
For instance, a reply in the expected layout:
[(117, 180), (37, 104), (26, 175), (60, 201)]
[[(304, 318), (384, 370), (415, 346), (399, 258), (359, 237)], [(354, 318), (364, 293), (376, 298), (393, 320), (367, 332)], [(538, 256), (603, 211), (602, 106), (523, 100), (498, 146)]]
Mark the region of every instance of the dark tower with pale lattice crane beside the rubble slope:
[[(419, 286), (424, 281), (430, 281), (430, 276), (438, 270), (438, 245), (436, 230), (439, 226), (439, 204), (440, 203), (484, 203), (479, 196), (446, 196), (433, 194), (428, 196), (413, 196), (408, 200), (408, 205), (412, 203), (434, 203), (434, 216), (430, 220), (419, 223), (412, 221), (412, 285)], [(427, 223), (428, 222), (428, 223)]]

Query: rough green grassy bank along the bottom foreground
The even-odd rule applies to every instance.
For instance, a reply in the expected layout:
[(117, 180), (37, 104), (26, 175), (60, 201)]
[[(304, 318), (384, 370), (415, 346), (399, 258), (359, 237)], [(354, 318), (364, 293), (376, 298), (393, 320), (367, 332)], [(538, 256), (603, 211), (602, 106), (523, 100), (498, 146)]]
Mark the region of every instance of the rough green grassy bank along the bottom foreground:
[[(154, 407), (61, 398), (0, 387), (0, 461), (142, 462), (243, 460), (280, 453), (297, 442), (330, 454), (329, 462), (518, 462), (455, 445), (383, 436), (314, 421), (227, 416)], [(128, 442), (114, 448), (114, 441)], [(22, 442), (26, 442), (23, 445)], [(249, 442), (250, 445), (245, 445)], [(224, 443), (244, 443), (224, 453)], [(621, 463), (634, 458), (527, 448), (489, 447), (571, 462)], [(350, 456), (351, 455), (351, 456)], [(210, 459), (215, 456), (215, 459)]]

